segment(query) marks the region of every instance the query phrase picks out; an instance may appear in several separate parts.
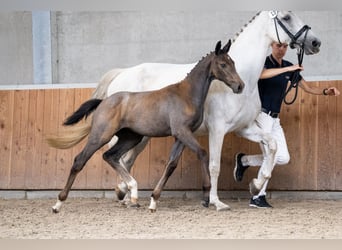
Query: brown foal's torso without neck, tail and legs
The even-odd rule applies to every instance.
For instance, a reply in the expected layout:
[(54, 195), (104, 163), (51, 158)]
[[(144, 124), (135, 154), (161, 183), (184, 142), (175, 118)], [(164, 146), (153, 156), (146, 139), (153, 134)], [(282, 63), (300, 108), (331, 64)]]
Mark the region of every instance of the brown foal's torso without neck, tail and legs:
[(117, 130), (130, 128), (145, 136), (172, 135), (171, 127), (191, 127), (196, 118), (190, 94), (186, 80), (156, 91), (115, 93), (102, 101), (94, 122), (108, 121)]

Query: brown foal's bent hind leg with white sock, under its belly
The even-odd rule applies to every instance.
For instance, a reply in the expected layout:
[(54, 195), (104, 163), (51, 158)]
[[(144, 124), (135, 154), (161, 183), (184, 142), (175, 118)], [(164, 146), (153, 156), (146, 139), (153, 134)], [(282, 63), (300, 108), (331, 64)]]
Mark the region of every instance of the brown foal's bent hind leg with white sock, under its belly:
[(121, 165), (120, 158), (141, 142), (143, 136), (129, 129), (120, 130), (116, 133), (116, 136), (119, 138), (117, 143), (103, 154), (103, 159), (118, 172), (121, 179), (131, 191), (131, 202), (133, 206), (138, 206), (138, 184), (130, 175), (129, 171)]

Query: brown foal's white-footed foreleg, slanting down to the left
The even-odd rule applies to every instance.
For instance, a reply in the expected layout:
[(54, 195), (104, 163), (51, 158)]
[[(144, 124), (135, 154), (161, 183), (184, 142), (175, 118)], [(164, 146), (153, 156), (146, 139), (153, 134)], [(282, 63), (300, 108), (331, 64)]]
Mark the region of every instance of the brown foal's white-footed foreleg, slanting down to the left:
[(180, 156), (184, 150), (184, 144), (181, 143), (179, 140), (172, 145), (169, 161), (165, 167), (162, 177), (158, 181), (156, 187), (154, 188), (152, 195), (151, 195), (151, 202), (149, 206), (149, 210), (151, 212), (155, 212), (157, 209), (157, 201), (160, 197), (161, 191), (165, 186), (167, 180), (172, 175), (173, 171), (176, 169)]

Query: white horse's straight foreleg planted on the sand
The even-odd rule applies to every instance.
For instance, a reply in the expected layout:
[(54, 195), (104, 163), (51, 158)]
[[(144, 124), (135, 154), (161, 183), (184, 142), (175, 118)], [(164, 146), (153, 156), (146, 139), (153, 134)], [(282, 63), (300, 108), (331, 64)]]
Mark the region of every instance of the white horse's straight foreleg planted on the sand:
[(218, 177), (221, 167), (221, 151), (224, 133), (217, 130), (209, 130), (209, 171), (210, 171), (210, 204), (216, 207), (217, 211), (228, 210), (230, 207), (219, 200), (217, 194)]

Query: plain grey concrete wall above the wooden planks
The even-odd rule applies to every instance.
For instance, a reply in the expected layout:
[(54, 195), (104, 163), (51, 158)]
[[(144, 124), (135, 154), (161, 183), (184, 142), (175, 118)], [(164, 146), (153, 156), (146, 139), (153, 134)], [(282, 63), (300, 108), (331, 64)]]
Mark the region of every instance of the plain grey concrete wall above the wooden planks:
[[(304, 57), (303, 75), (342, 79), (342, 12), (296, 11), (322, 40)], [(51, 12), (53, 83), (91, 83), (114, 67), (142, 62), (189, 63), (232, 38), (250, 11)], [(253, 42), (253, 41), (251, 41)], [(288, 59), (296, 60), (295, 51)], [(0, 85), (32, 84), (31, 12), (0, 12)]]

